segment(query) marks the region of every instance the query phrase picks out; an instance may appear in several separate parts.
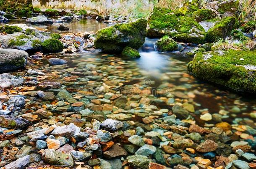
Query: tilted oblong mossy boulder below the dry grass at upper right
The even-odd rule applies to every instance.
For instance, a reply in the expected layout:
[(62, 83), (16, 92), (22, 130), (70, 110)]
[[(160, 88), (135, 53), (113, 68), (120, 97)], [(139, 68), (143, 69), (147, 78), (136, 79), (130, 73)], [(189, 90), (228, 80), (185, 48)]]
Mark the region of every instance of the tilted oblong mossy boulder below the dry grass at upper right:
[(239, 22), (235, 17), (226, 17), (220, 20), (210, 28), (206, 33), (205, 39), (208, 42), (218, 41), (226, 36), (229, 36), (231, 31), (239, 28)]

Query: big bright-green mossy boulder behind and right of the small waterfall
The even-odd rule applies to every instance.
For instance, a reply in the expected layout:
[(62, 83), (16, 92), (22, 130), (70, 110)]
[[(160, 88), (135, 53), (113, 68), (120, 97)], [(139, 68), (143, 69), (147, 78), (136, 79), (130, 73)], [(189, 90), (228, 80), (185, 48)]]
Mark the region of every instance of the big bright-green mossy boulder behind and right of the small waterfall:
[(147, 37), (168, 35), (186, 43), (203, 43), (205, 30), (193, 18), (175, 15), (166, 8), (154, 8), (149, 17)]

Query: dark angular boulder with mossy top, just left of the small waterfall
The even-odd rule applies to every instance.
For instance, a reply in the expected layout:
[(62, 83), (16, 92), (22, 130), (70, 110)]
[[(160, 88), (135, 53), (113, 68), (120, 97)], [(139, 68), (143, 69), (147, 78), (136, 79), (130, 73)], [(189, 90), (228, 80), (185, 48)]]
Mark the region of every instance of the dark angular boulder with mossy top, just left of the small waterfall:
[(138, 49), (144, 44), (147, 20), (137, 19), (103, 28), (96, 33), (94, 46), (105, 53), (121, 53), (125, 46)]

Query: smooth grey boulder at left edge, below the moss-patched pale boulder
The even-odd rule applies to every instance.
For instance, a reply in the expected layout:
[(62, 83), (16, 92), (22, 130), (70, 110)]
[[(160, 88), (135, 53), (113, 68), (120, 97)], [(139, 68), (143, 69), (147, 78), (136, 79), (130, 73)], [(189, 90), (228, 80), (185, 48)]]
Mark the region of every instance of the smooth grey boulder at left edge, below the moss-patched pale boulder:
[(0, 49), (0, 73), (26, 67), (29, 54), (16, 49)]

